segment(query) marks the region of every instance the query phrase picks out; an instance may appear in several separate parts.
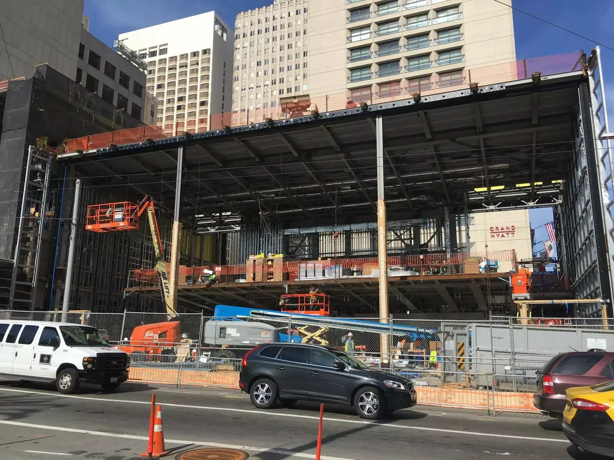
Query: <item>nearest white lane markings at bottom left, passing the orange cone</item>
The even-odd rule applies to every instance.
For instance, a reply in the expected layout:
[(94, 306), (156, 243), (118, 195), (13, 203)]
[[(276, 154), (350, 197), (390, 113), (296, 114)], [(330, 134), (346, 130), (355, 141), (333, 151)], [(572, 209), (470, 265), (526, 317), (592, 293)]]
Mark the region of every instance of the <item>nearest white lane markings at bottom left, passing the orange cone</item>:
[[(27, 428), (36, 428), (36, 429), (43, 429), (43, 430), (50, 430), (50, 431), (63, 431), (63, 432), (68, 432), (68, 433), (88, 434), (88, 435), (94, 435), (94, 436), (108, 436), (108, 437), (113, 437), (113, 438), (133, 439), (133, 440), (139, 440), (139, 441), (149, 440), (149, 437), (147, 436), (107, 433), (104, 431), (90, 431), (90, 430), (82, 430), (82, 429), (77, 429), (77, 428), (68, 428), (68, 427), (63, 427), (63, 426), (37, 425), (34, 423), (24, 423), (24, 422), (10, 421), (10, 420), (0, 420), (0, 424), (21, 426), (21, 427), (27, 427)], [(180, 445), (181, 444), (195, 444), (199, 446), (216, 447), (220, 449), (251, 450), (251, 451), (259, 452), (259, 453), (270, 452), (274, 454), (285, 455), (287, 457), (299, 457), (299, 458), (309, 458), (309, 459), (316, 458), (316, 456), (313, 454), (305, 454), (301, 452), (293, 452), (291, 450), (283, 450), (283, 449), (268, 448), (268, 447), (236, 446), (236, 445), (231, 445), (231, 444), (221, 444), (217, 442), (194, 441), (194, 440), (185, 440), (185, 439), (165, 439), (164, 442), (169, 443), (169, 444), (180, 444)], [(26, 450), (26, 452), (50, 453), (50, 452), (38, 452), (38, 451), (31, 451), (31, 450)], [(66, 454), (58, 454), (58, 455), (66, 455)], [(349, 459), (349, 458), (328, 457), (328, 456), (321, 456), (321, 458), (322, 460), (354, 460), (354, 459)]]

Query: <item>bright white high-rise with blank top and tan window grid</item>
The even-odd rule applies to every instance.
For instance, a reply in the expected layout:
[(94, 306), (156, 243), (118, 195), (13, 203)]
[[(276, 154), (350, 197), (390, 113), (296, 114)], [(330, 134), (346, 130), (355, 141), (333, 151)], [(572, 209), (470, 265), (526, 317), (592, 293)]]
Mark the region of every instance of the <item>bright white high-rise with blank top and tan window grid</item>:
[(232, 35), (213, 11), (120, 34), (147, 62), (155, 122), (165, 134), (207, 131), (212, 114), (230, 112)]

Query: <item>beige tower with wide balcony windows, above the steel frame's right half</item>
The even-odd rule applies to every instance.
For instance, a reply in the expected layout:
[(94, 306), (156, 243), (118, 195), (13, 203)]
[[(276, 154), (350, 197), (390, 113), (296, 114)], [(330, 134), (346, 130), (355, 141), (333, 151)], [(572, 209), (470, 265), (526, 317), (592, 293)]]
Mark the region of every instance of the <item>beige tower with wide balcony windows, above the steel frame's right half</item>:
[(500, 2), (309, 0), (309, 12), (309, 94), (321, 112), (516, 75), (512, 12)]

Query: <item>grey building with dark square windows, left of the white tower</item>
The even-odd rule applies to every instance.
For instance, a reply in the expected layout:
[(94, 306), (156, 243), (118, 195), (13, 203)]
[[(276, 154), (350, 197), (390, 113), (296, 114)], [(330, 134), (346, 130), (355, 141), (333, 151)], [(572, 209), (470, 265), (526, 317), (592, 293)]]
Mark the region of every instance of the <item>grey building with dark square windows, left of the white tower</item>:
[[(122, 55), (81, 29), (76, 82), (88, 93), (96, 93), (109, 102), (111, 120), (123, 126), (122, 117), (130, 115), (146, 123), (155, 123), (155, 104), (146, 96), (144, 69), (134, 66)], [(122, 113), (123, 110), (123, 113)]]

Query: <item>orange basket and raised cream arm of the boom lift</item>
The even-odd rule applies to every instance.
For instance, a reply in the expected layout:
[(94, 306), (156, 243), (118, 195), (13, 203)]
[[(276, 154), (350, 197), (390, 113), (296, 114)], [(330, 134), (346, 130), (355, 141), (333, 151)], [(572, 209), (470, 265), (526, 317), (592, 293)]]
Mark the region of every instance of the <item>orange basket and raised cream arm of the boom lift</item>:
[(166, 306), (166, 316), (171, 320), (177, 317), (177, 312), (174, 309), (171, 297), (168, 271), (166, 269), (166, 261), (152, 197), (149, 195), (144, 196), (139, 204), (130, 201), (120, 201), (90, 205), (87, 207), (85, 229), (99, 233), (136, 230), (139, 228), (139, 218), (145, 211), (147, 211), (147, 220), (149, 221), (149, 230), (153, 241), (153, 252), (156, 258), (155, 270), (158, 272), (158, 278), (160, 279), (160, 291)]

